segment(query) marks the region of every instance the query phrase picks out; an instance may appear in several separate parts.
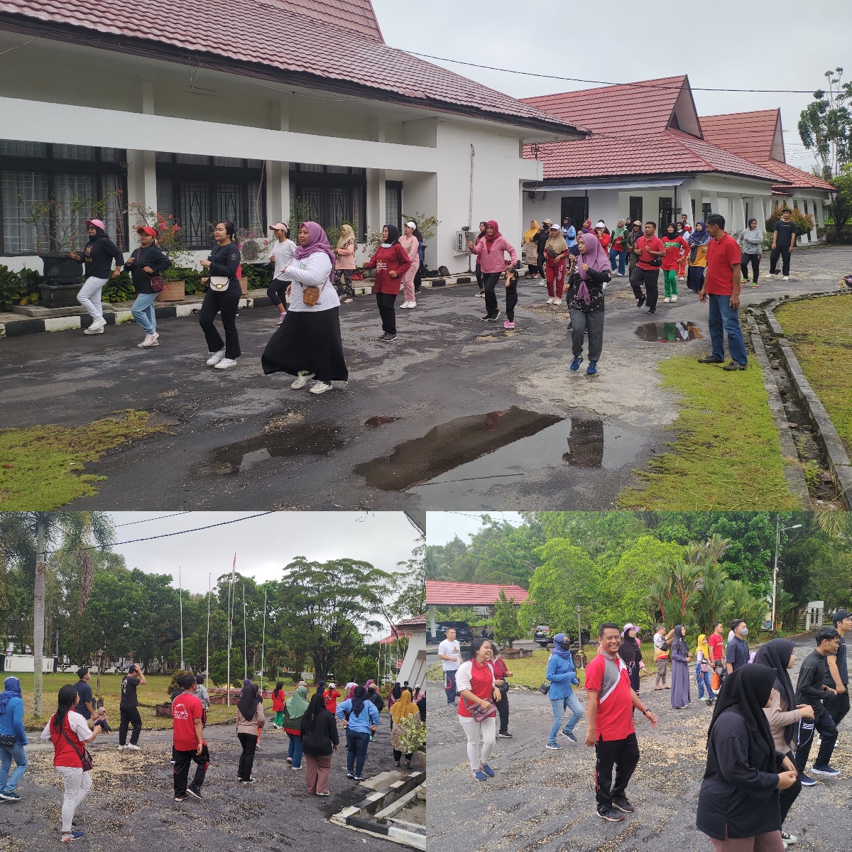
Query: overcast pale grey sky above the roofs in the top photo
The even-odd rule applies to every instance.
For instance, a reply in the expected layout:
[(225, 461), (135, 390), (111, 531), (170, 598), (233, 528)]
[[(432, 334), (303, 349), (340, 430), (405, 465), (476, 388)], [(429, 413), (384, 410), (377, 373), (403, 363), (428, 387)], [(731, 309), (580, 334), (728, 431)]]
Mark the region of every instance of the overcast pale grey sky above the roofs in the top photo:
[[(385, 41), (395, 48), (607, 83), (685, 73), (699, 116), (781, 107), (787, 162), (805, 170), (813, 160), (796, 130), (799, 112), (812, 100), (810, 93), (826, 83), (826, 70), (843, 66), (852, 30), (852, 3), (372, 3)], [(581, 17), (588, 14), (591, 19)], [(436, 64), (515, 97), (593, 88)], [(848, 72), (847, 79), (852, 66)], [(703, 92), (697, 87), (804, 89), (806, 94)]]

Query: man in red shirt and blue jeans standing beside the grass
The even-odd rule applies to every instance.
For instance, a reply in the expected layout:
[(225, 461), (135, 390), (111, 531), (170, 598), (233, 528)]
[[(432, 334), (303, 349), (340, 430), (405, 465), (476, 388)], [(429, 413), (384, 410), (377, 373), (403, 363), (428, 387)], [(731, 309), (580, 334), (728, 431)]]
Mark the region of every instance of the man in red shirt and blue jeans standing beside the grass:
[(711, 241), (707, 245), (707, 274), (704, 286), (698, 294), (701, 302), (710, 296), (710, 340), (713, 352), (706, 358), (699, 358), (700, 364), (724, 364), (725, 334), (728, 332), (728, 351), (731, 361), (722, 370), (745, 370), (746, 342), (740, 328), (740, 246), (736, 240), (725, 233), (725, 219), (718, 213), (707, 216), (707, 233)]

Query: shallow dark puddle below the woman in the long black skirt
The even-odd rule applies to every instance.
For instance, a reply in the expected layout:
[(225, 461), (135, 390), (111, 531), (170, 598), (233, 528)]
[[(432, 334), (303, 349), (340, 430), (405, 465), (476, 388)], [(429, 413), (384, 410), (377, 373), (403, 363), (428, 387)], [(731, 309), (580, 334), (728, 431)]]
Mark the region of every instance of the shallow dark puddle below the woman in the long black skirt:
[(299, 425), (220, 446), (210, 452), (210, 469), (222, 475), (245, 473), (270, 458), (330, 456), (342, 450), (345, 443), (346, 432), (336, 421)]

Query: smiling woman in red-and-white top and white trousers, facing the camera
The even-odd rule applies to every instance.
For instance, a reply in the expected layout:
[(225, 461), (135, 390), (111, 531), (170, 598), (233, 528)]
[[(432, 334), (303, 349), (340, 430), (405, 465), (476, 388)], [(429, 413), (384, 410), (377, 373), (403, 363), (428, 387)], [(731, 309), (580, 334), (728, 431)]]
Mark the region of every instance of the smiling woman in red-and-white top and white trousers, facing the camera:
[(496, 740), (494, 714), (497, 712), (500, 690), (494, 682), (494, 672), (488, 665), (493, 656), (490, 640), (485, 636), (477, 636), (470, 643), (470, 659), (460, 665), (456, 672), (456, 688), (461, 697), (458, 702), (458, 722), (468, 740), (468, 760), (477, 781), (494, 777), (494, 770), (488, 765), (488, 760)]

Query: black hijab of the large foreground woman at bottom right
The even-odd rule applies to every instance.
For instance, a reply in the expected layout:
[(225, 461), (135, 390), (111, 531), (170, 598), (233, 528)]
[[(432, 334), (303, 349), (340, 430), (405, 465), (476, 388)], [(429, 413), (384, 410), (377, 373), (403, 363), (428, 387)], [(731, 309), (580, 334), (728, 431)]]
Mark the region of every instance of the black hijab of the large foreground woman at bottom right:
[(769, 702), (775, 670), (759, 663), (744, 665), (722, 681), (722, 689), (713, 708), (707, 740), (710, 741), (713, 726), (725, 711), (733, 711), (742, 717), (749, 730), (749, 765), (760, 772), (776, 772), (775, 740), (769, 728), (769, 719), (763, 708)]

